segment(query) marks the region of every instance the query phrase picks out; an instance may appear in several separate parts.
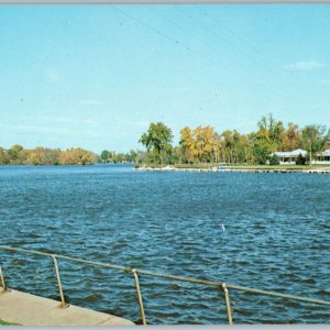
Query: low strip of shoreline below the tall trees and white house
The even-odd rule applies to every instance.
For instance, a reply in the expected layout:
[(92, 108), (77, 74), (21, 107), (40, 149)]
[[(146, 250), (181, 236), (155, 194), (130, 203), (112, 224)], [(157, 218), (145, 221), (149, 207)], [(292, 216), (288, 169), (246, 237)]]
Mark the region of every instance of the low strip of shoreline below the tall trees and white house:
[(298, 165), (277, 165), (277, 166), (206, 166), (206, 165), (139, 165), (135, 170), (156, 170), (156, 172), (242, 172), (242, 173), (316, 173), (330, 174), (330, 166), (298, 166)]

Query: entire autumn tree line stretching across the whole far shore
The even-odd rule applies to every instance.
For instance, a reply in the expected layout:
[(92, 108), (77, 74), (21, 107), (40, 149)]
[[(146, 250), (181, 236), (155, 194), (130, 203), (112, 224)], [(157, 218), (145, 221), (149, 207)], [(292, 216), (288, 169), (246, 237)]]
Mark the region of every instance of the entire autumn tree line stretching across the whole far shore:
[[(308, 160), (330, 147), (330, 129), (322, 124), (299, 128), (298, 124), (263, 116), (255, 132), (242, 134), (226, 130), (221, 134), (210, 125), (184, 127), (178, 145), (173, 145), (172, 129), (162, 122), (151, 123), (139, 142), (145, 151), (131, 150), (117, 153), (103, 150), (100, 155), (81, 147), (24, 148), (20, 144), (9, 150), (0, 146), (0, 165), (88, 165), (95, 163), (144, 163), (144, 164), (258, 164), (272, 162), (270, 154), (277, 151), (306, 150)], [(300, 160), (304, 163), (304, 160)]]

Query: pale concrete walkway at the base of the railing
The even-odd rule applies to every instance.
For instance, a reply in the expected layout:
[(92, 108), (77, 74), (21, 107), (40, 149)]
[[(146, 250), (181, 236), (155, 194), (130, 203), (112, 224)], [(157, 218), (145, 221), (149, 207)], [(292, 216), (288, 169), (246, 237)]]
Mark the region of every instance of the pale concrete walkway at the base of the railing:
[(87, 308), (61, 308), (59, 301), (16, 290), (0, 293), (0, 320), (22, 326), (134, 326), (127, 319)]

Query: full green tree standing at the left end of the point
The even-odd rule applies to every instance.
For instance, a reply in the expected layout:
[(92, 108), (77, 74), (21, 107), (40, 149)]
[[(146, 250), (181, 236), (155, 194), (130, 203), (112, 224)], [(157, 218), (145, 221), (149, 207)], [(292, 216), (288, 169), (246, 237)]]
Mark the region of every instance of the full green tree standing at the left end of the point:
[(162, 122), (151, 123), (147, 132), (143, 133), (140, 143), (142, 143), (152, 160), (162, 164), (164, 157), (172, 152), (172, 130)]

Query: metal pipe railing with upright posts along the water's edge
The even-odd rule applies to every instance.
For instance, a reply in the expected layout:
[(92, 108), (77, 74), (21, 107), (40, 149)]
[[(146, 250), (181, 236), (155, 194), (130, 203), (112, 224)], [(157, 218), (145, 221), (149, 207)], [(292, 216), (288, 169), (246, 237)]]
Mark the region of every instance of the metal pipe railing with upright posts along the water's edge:
[[(309, 304), (330, 306), (330, 301), (327, 301), (327, 300), (320, 300), (320, 299), (305, 298), (305, 297), (294, 296), (294, 295), (279, 294), (279, 293), (275, 293), (275, 292), (267, 292), (267, 290), (250, 288), (250, 287), (245, 287), (245, 286), (232, 285), (232, 284), (215, 282), (215, 280), (182, 277), (182, 276), (175, 276), (175, 275), (169, 275), (169, 274), (160, 274), (160, 273), (144, 271), (144, 270), (136, 270), (136, 268), (131, 268), (131, 267), (123, 267), (123, 266), (112, 265), (112, 264), (108, 264), (108, 263), (88, 261), (88, 260), (78, 258), (78, 257), (65, 256), (65, 255), (61, 255), (61, 254), (52, 254), (52, 253), (46, 253), (46, 252), (40, 252), (40, 251), (34, 251), (34, 250), (23, 250), (23, 249), (3, 246), (3, 245), (0, 245), (0, 250), (52, 257), (53, 263), (54, 263), (54, 267), (55, 267), (56, 278), (57, 278), (57, 285), (58, 285), (58, 292), (59, 292), (59, 296), (61, 296), (61, 307), (62, 308), (68, 307), (68, 305), (66, 304), (65, 297), (64, 297), (64, 294), (63, 294), (63, 286), (62, 286), (62, 280), (61, 280), (61, 274), (59, 274), (57, 260), (67, 260), (67, 261), (84, 263), (84, 264), (88, 264), (88, 265), (92, 265), (92, 266), (100, 266), (100, 267), (105, 267), (105, 268), (120, 270), (120, 271), (123, 271), (123, 272), (127, 272), (127, 273), (131, 273), (133, 275), (134, 282), (135, 282), (138, 302), (139, 302), (139, 306), (140, 306), (140, 314), (141, 314), (141, 319), (142, 319), (143, 324), (146, 324), (146, 318), (145, 318), (144, 306), (143, 306), (143, 300), (142, 300), (142, 295), (141, 295), (140, 282), (139, 282), (139, 275), (138, 274), (145, 275), (145, 276), (152, 276), (152, 277), (162, 277), (162, 278), (167, 278), (167, 279), (180, 280), (180, 282), (189, 282), (189, 283), (195, 283), (195, 284), (202, 284), (202, 285), (213, 286), (213, 287), (222, 289), (223, 293), (224, 293), (224, 298), (226, 298), (226, 306), (227, 306), (227, 314), (228, 314), (229, 324), (233, 323), (233, 321), (232, 321), (232, 310), (231, 310), (231, 307), (230, 307), (229, 289), (235, 289), (235, 290), (241, 290), (241, 292), (256, 294), (256, 295), (267, 295), (267, 296), (273, 296), (273, 297), (286, 298), (286, 299), (298, 300), (298, 301), (304, 301), (304, 302), (309, 302)], [(4, 293), (4, 292), (8, 290), (8, 287), (6, 285), (6, 280), (4, 280), (4, 276), (3, 276), (3, 273), (2, 273), (1, 264), (0, 264), (0, 280), (1, 280), (2, 292)]]

